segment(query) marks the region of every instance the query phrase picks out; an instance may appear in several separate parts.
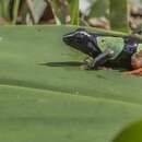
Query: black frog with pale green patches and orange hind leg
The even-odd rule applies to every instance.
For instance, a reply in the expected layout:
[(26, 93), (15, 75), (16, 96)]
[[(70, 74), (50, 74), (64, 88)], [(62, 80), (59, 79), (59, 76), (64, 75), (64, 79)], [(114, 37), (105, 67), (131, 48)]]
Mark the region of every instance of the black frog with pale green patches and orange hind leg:
[(62, 40), (87, 55), (85, 70), (123, 68), (123, 74), (142, 75), (142, 40), (129, 35), (114, 35), (78, 28), (64, 34)]

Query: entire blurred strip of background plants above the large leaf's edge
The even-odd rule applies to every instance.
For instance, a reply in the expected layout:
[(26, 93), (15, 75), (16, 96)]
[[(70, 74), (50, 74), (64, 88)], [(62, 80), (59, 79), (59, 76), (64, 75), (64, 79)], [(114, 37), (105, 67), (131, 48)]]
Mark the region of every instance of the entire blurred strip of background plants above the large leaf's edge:
[(131, 32), (141, 28), (141, 0), (0, 0), (0, 25), (73, 24)]

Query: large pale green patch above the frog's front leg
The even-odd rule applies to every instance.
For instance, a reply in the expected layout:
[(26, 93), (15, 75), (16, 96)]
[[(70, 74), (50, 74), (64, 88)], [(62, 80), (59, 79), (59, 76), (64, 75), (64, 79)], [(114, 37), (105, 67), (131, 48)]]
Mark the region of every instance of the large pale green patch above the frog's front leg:
[(97, 37), (97, 46), (104, 52), (107, 48), (114, 51), (114, 56), (110, 60), (116, 59), (121, 51), (123, 50), (125, 43), (121, 37), (106, 37), (106, 36), (98, 36)]

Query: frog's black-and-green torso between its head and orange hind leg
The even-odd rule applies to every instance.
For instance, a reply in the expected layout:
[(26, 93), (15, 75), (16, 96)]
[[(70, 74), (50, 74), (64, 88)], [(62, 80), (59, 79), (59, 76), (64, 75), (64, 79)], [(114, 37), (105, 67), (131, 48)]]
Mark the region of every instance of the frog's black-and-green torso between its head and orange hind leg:
[(113, 67), (131, 68), (131, 56), (137, 52), (138, 47), (142, 49), (142, 44), (135, 43), (129, 38), (115, 36), (97, 36), (97, 46), (102, 51), (107, 48), (114, 51), (114, 55), (107, 62)]

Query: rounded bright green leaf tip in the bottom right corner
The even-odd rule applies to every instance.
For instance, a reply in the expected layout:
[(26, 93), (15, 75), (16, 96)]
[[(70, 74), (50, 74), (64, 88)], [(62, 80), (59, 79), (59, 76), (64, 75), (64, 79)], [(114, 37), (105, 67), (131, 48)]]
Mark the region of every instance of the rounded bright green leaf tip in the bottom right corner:
[(142, 121), (123, 129), (114, 142), (142, 142)]

